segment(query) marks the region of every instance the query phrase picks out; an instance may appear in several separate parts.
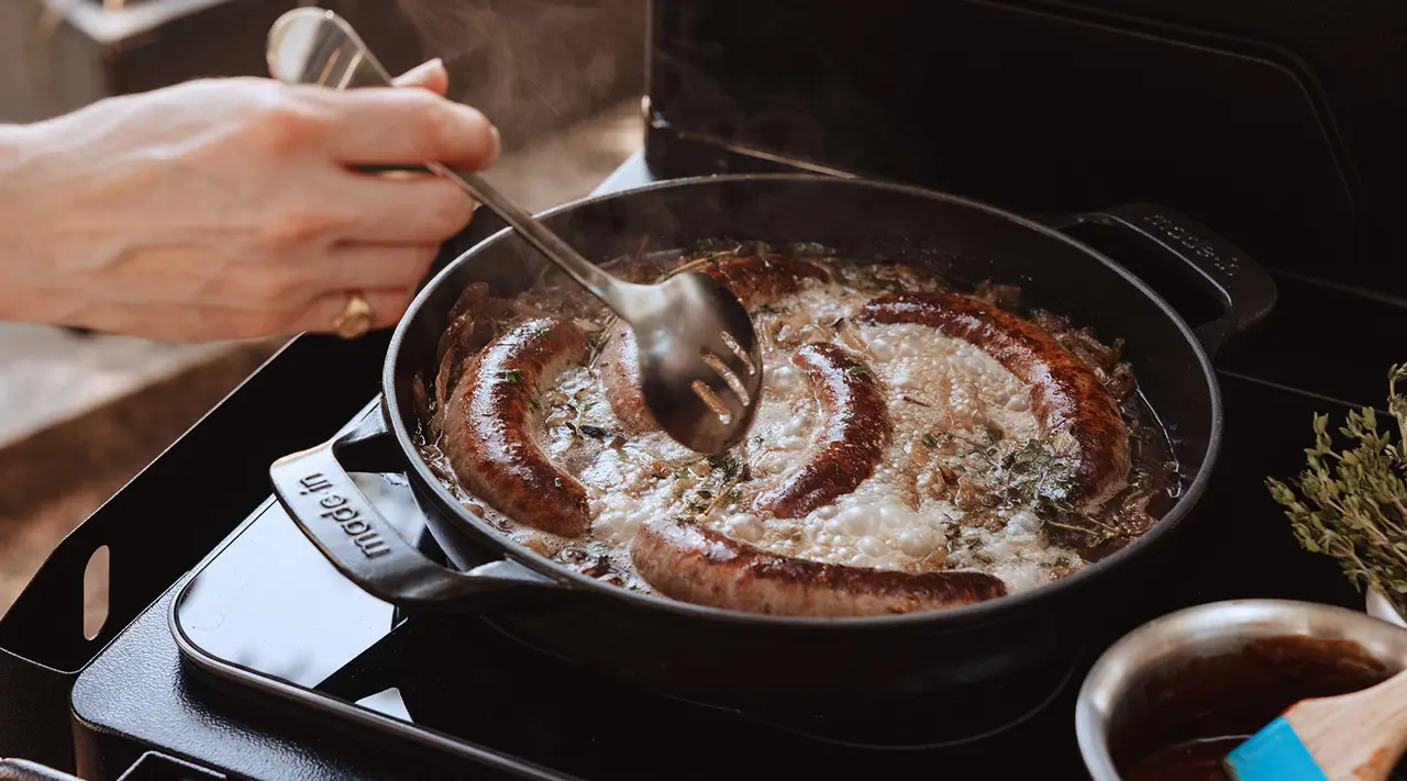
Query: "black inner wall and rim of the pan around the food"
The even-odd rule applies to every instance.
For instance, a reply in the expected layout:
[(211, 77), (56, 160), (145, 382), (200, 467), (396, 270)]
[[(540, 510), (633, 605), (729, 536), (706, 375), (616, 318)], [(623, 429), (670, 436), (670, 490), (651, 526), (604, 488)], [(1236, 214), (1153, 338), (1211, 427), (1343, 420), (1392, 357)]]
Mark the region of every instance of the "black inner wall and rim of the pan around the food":
[[(1178, 315), (1135, 277), (1048, 229), (957, 198), (825, 177), (668, 183), (568, 205), (546, 220), (582, 255), (599, 262), (640, 252), (763, 241), (784, 248), (823, 248), (839, 256), (898, 260), (960, 284), (995, 280), (1020, 286), (1027, 304), (1068, 315), (1075, 324), (1090, 326), (1106, 343), (1124, 341), (1124, 355), (1141, 393), (1165, 426), (1180, 464), (1183, 502), (1200, 493), (1203, 467), (1214, 452), (1218, 428), (1216, 387), (1204, 353)], [(463, 511), (415, 453), (409, 436), (418, 425), (412, 384), (419, 373), (433, 372), (447, 312), (466, 286), (481, 281), (492, 294), (511, 297), (529, 290), (543, 265), (511, 232), (470, 250), (426, 286), (387, 356), (387, 405), (402, 447), (429, 483), (435, 504), (449, 508), (466, 522), (466, 531), (490, 547), (507, 540), (495, 540), (487, 521)], [(1165, 514), (1144, 539), (1176, 522), (1180, 508), (1182, 504)], [(515, 554), (536, 559), (535, 566), (570, 573), (526, 549)], [(1103, 564), (1088, 567), (1067, 581), (1100, 569)], [(577, 580), (574, 576), (568, 574)], [(1050, 590), (1040, 588), (1031, 595)]]

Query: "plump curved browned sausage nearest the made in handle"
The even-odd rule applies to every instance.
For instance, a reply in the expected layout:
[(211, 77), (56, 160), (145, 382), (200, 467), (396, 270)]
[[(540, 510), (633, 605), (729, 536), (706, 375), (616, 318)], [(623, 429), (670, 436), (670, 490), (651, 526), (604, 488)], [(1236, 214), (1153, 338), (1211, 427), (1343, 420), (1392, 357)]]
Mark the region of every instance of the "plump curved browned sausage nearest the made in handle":
[(537, 394), (580, 364), (587, 335), (561, 318), (526, 319), (470, 362), (446, 409), (445, 455), (460, 483), (514, 521), (574, 538), (591, 522), (587, 490), (533, 442)]

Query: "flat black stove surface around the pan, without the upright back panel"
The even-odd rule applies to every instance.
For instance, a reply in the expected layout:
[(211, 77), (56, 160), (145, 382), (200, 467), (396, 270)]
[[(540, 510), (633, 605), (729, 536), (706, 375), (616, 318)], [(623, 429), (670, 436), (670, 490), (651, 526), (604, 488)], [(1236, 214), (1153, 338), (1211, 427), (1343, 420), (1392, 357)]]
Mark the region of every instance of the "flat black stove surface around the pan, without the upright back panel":
[[(522, 771), (584, 778), (647, 775), (661, 767), (681, 777), (691, 770), (737, 770), (732, 753), (699, 750), (699, 736), (739, 751), (753, 746), (771, 757), (771, 764), (747, 766), (757, 774), (836, 767), (898, 773), (941, 761), (1013, 777), (1040, 770), (1078, 778), (1071, 726), (1076, 685), (1071, 681), (1079, 681), (1092, 653), (1138, 619), (1244, 595), (1361, 602), (1331, 561), (1297, 549), (1259, 485), (1263, 474), (1297, 466), (1310, 414), (1342, 414), (1342, 402), (1325, 398), (1323, 386), (1306, 393), (1242, 374), (1255, 369), (1259, 356), (1300, 343), (1306, 321), (1321, 307), (1355, 311), (1387, 328), (1407, 326), (1407, 311), (1390, 304), (1282, 279), (1269, 319), (1247, 335), (1240, 350), (1231, 345), (1218, 359), (1224, 449), (1199, 502), (1202, 512), (1188, 518), (1183, 540), (1168, 546), (1176, 564), (1171, 574), (1138, 591), (1135, 611), (1095, 622), (1100, 626), (1088, 636), (1089, 650), (1078, 661), (1003, 685), (916, 698), (906, 708), (878, 713), (861, 709), (848, 718), (740, 713), (581, 674), (487, 622), (398, 615), (328, 564), (267, 494), (267, 464), (280, 455), (339, 426), (350, 432), (377, 414), (384, 336), (352, 345), (293, 342), (94, 522), (76, 531), (21, 597), (18, 612), (0, 623), (10, 664), (0, 680), (6, 685), (30, 681), (39, 694), (62, 687), (58, 675), (25, 675), (21, 656), (55, 671), (80, 673), (69, 678), (76, 678), (72, 697), (58, 698), (52, 730), (41, 733), (32, 718), (37, 712), (24, 723), (28, 735), (66, 737), (62, 728), (72, 705), (77, 767), (96, 778), (115, 777), (139, 749), (155, 746), (248, 778), (395, 778), (407, 768), (429, 777)], [(1354, 345), (1356, 355), (1344, 360), (1386, 364), (1393, 359), (1390, 346), (1380, 342)], [(1313, 360), (1330, 357), (1310, 355)], [(1366, 383), (1359, 400), (1380, 397), (1377, 384)], [(331, 421), (333, 415), (342, 422)], [(250, 438), (256, 421), (257, 431), (272, 428)], [(239, 457), (219, 457), (232, 443), (239, 443)], [(259, 469), (245, 469), (246, 457), (262, 459)], [(428, 556), (443, 556), (416, 525), (419, 515), (411, 509), (414, 497), (404, 481), (355, 477), (364, 491), (384, 497), (378, 507), (404, 536), (418, 539)], [(242, 502), (256, 507), (243, 522), (238, 516)], [(172, 529), (183, 523), (193, 533), (173, 536)], [(158, 584), (162, 577), (179, 577), (172, 559), (191, 554), (201, 535), (215, 536), (225, 523), (238, 525), (236, 533), (207, 554), (189, 587)], [(104, 542), (113, 546), (113, 615), (124, 623), (128, 616), (136, 621), (120, 635), (121, 623), (104, 629), (97, 645), (111, 643), (89, 663), (82, 654), (91, 656), (93, 646), (79, 643), (76, 629), (63, 632), (55, 622), (65, 605), (53, 594), (82, 581), (87, 554)], [(118, 561), (127, 566), (120, 569)], [(159, 595), (151, 608), (131, 604), (141, 587)], [(189, 599), (183, 609), (191, 608), (184, 630), (198, 637), (203, 654), (183, 657), (173, 637), (173, 601), (182, 592)], [(217, 667), (225, 674), (210, 674)], [(643, 716), (635, 726), (622, 726), (630, 723), (629, 713)], [(7, 726), (23, 726), (18, 715), (7, 718)], [(14, 739), (25, 732), (6, 735)], [(661, 764), (681, 756), (691, 757), (687, 767)]]

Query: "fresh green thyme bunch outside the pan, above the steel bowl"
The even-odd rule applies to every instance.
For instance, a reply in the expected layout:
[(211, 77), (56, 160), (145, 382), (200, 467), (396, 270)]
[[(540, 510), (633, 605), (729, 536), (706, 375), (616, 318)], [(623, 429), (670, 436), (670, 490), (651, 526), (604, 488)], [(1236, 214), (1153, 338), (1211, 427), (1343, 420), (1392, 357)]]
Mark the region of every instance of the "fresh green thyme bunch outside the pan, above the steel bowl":
[(1363, 407), (1337, 429), (1349, 446), (1335, 450), (1328, 415), (1316, 414), (1306, 469), (1289, 483), (1265, 481), (1300, 547), (1338, 560), (1355, 588), (1376, 588), (1399, 614), (1407, 614), (1407, 397), (1397, 393), (1404, 379), (1407, 364), (1389, 369), (1387, 411), (1397, 443), (1390, 431), (1377, 431), (1373, 408)]

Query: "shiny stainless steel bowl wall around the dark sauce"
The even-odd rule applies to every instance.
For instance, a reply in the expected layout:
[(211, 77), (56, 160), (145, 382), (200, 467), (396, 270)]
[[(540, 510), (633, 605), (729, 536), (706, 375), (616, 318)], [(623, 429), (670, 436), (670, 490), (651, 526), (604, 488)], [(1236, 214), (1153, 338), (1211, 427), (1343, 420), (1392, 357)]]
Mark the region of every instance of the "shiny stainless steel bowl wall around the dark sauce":
[(1252, 640), (1351, 640), (1386, 674), (1407, 668), (1407, 630), (1358, 611), (1285, 599), (1188, 608), (1126, 635), (1095, 663), (1075, 705), (1075, 735), (1095, 781), (1120, 781), (1112, 728), (1127, 729), (1148, 702), (1148, 682), (1199, 659), (1240, 654)]

